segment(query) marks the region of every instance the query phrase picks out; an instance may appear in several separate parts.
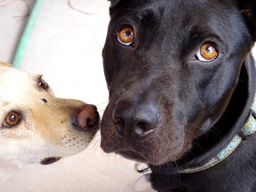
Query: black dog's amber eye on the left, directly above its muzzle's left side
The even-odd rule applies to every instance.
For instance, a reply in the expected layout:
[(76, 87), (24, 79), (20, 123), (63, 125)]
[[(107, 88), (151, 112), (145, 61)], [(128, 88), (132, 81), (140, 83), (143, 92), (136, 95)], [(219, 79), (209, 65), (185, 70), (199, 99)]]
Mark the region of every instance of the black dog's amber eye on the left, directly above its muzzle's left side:
[(133, 29), (125, 27), (117, 33), (117, 40), (123, 45), (131, 45), (134, 40)]

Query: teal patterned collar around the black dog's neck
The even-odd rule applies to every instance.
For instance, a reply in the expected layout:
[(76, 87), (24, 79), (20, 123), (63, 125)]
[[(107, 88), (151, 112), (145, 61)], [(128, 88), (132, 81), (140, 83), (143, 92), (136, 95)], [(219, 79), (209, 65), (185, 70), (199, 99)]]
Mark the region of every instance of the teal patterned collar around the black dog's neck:
[(226, 159), (241, 143), (242, 140), (248, 139), (252, 134), (256, 132), (256, 95), (254, 96), (254, 102), (251, 107), (251, 113), (247, 119), (245, 125), (241, 131), (235, 135), (232, 141), (213, 159), (207, 162), (205, 165), (195, 168), (189, 168), (180, 170), (180, 173), (196, 173), (199, 171), (206, 170), (214, 165), (220, 163), (222, 160)]

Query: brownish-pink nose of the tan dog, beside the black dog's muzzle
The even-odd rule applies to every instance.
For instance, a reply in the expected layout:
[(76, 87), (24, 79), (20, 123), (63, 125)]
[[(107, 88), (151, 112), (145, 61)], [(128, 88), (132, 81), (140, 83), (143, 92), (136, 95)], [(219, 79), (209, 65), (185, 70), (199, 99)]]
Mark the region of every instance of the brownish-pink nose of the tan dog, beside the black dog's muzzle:
[(86, 126), (94, 126), (97, 121), (98, 112), (94, 105), (86, 104), (82, 106), (75, 118), (76, 126), (85, 128)]

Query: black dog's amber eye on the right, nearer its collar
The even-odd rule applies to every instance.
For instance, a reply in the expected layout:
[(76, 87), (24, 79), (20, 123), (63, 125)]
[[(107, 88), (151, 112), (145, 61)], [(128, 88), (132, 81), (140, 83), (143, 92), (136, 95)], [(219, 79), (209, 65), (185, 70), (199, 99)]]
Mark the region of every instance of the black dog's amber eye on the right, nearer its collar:
[(210, 43), (204, 43), (200, 49), (197, 51), (197, 54), (195, 56), (196, 59), (199, 59), (200, 61), (212, 61), (214, 60), (218, 55), (218, 52), (216, 50), (216, 47)]

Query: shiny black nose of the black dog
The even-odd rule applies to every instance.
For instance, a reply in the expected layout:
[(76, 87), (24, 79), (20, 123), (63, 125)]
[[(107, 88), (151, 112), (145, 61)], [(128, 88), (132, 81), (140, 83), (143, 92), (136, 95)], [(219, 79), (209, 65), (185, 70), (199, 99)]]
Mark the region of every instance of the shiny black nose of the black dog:
[(156, 108), (119, 102), (113, 111), (116, 130), (127, 139), (140, 139), (152, 133), (158, 125)]

